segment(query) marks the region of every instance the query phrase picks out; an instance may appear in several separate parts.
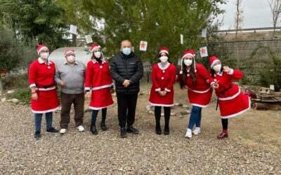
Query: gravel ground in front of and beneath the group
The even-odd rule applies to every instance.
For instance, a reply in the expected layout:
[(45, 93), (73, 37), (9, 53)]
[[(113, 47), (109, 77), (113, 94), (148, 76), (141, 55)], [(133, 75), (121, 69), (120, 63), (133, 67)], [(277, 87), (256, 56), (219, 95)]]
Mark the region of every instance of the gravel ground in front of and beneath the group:
[[(185, 128), (171, 127), (169, 136), (158, 136), (145, 112), (136, 116), (141, 134), (119, 139), (116, 108), (108, 110), (109, 130), (98, 127), (97, 136), (89, 132), (91, 113), (86, 113), (85, 132), (72, 121), (67, 134), (47, 134), (43, 122), (42, 137), (35, 140), (30, 107), (0, 102), (0, 174), (281, 174), (280, 151), (204, 132), (185, 139)], [(53, 125), (58, 123), (55, 113)]]

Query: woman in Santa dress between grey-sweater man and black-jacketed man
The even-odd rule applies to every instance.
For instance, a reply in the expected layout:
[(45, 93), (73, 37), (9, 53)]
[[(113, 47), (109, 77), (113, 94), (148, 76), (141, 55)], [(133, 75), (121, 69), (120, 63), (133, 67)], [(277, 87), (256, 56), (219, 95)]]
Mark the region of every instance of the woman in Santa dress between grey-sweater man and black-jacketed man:
[[(92, 109), (91, 116), (91, 133), (98, 134), (96, 129), (96, 118), (98, 111), (102, 111), (102, 120), (100, 127), (103, 131), (107, 130), (105, 126), (105, 119), (107, 115), (107, 107), (113, 105), (111, 92), (114, 91), (112, 86), (112, 77), (110, 74), (110, 68), (107, 61), (103, 57), (103, 53), (100, 50), (100, 45), (91, 45), (92, 57), (91, 61), (87, 64), (85, 90), (86, 97), (90, 96), (91, 103), (89, 109)], [(91, 90), (91, 92), (90, 92)]]

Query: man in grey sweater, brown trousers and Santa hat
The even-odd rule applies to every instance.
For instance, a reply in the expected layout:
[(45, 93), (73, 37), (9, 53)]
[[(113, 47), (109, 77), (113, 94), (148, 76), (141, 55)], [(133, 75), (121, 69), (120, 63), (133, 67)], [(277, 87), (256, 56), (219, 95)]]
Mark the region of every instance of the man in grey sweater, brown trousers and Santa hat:
[(65, 51), (65, 63), (58, 66), (55, 82), (61, 86), (60, 134), (65, 134), (70, 123), (70, 109), (74, 104), (74, 121), (79, 132), (84, 131), (84, 77), (86, 66), (75, 60), (74, 50)]

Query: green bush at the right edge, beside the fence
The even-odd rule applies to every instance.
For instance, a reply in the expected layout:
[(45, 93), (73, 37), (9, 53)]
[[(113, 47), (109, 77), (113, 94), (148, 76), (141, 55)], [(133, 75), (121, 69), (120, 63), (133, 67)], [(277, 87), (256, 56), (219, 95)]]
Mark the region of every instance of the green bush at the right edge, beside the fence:
[(275, 91), (281, 90), (281, 57), (273, 55), (271, 60), (266, 62), (266, 66), (260, 70), (261, 85), (269, 87), (275, 86)]

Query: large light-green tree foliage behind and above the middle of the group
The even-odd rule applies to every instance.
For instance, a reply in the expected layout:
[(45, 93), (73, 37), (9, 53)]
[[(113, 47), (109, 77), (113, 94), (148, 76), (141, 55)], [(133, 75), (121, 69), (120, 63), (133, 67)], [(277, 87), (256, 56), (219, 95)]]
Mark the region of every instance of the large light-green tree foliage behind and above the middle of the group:
[[(77, 24), (81, 34), (92, 34), (93, 41), (105, 46), (106, 55), (116, 55), (124, 39), (132, 41), (137, 55), (156, 62), (158, 49), (166, 46), (171, 61), (183, 50), (198, 50), (202, 28), (210, 15), (222, 13), (217, 4), (223, 0), (82, 0), (63, 1), (67, 21)], [(79, 11), (79, 14), (77, 14)], [(100, 25), (101, 24), (101, 25)], [(180, 44), (180, 34), (184, 44)], [(105, 43), (103, 43), (105, 38)], [(138, 50), (140, 41), (148, 41), (148, 50)], [(153, 61), (155, 60), (155, 61)]]

